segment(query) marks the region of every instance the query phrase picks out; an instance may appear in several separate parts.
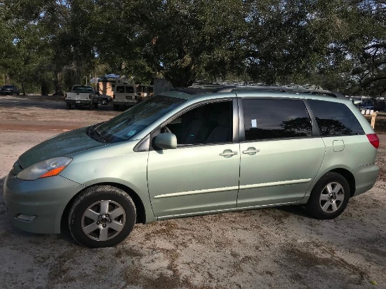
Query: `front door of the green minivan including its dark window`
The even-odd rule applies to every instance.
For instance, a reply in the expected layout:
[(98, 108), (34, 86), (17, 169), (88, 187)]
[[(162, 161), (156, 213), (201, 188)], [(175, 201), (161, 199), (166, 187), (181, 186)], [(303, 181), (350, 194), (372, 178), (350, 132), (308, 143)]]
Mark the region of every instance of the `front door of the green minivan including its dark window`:
[(232, 101), (194, 108), (163, 129), (177, 136), (178, 148), (149, 152), (147, 181), (154, 215), (235, 208), (240, 153), (232, 141)]

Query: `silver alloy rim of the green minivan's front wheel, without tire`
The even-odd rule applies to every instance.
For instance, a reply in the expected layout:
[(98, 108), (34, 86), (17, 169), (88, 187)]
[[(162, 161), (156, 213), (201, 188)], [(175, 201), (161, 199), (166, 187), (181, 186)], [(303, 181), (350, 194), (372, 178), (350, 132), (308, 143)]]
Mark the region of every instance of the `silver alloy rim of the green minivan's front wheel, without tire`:
[(88, 206), (81, 218), (81, 228), (90, 239), (106, 241), (114, 238), (125, 226), (126, 213), (121, 205), (101, 200)]

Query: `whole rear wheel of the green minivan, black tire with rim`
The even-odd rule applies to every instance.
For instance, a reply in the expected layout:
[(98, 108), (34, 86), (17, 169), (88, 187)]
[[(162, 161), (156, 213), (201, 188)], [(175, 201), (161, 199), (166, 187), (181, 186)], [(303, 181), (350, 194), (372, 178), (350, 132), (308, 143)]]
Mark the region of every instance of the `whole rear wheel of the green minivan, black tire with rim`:
[(312, 189), (306, 209), (317, 219), (333, 219), (345, 211), (349, 199), (350, 185), (347, 180), (330, 171)]

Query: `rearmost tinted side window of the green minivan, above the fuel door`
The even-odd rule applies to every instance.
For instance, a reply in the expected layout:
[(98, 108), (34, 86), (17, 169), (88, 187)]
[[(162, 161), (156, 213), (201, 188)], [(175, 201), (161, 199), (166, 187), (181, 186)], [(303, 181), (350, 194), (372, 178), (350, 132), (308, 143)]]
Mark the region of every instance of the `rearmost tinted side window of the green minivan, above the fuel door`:
[(352, 136), (364, 134), (364, 129), (345, 104), (309, 99), (322, 136)]

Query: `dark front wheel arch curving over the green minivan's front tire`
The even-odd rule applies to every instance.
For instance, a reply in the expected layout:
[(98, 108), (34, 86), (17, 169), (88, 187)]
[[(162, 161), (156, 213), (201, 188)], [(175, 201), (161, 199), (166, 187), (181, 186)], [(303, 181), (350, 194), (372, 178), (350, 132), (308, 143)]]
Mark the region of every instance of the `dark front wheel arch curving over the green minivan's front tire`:
[(72, 199), (70, 199), (70, 201), (65, 206), (65, 210), (62, 213), (62, 218), (60, 219), (60, 232), (62, 232), (63, 230), (67, 230), (68, 213), (69, 213), (69, 210), (71, 209), (72, 204), (74, 203), (74, 199), (79, 194), (84, 192), (84, 190), (86, 190), (88, 188), (91, 188), (91, 187), (98, 186), (98, 185), (111, 185), (112, 187), (119, 188), (119, 189), (123, 190), (124, 192), (126, 192), (126, 194), (128, 194), (131, 197), (131, 199), (133, 199), (133, 202), (134, 202), (134, 205), (135, 205), (135, 211), (136, 211), (136, 214), (137, 214), (137, 218), (135, 220), (135, 223), (142, 223), (142, 224), (146, 223), (146, 210), (145, 210), (145, 206), (144, 206), (144, 204), (142, 202), (142, 199), (138, 196), (138, 194), (136, 192), (134, 192), (131, 188), (128, 188), (126, 185), (122, 185), (120, 183), (105, 182), (105, 183), (96, 183), (96, 184), (93, 184), (93, 185), (89, 185), (89, 186), (85, 187), (83, 190), (81, 190), (78, 193), (76, 193), (76, 195), (74, 195), (72, 197)]

